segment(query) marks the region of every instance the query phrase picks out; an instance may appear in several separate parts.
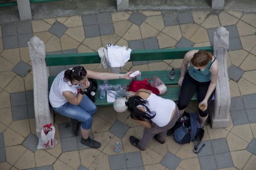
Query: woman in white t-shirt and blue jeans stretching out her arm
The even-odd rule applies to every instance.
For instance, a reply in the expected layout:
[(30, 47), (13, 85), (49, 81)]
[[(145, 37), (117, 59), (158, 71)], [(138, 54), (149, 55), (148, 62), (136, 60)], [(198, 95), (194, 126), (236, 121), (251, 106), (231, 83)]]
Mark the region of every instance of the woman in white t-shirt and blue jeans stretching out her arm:
[(71, 118), (73, 131), (76, 135), (81, 121), (81, 143), (83, 145), (99, 148), (101, 144), (89, 137), (93, 122), (92, 116), (97, 109), (89, 97), (84, 95), (86, 88), (90, 86), (88, 78), (100, 80), (130, 79), (129, 74), (131, 72), (126, 74), (99, 73), (85, 70), (82, 66), (61, 71), (53, 80), (49, 92), (49, 102), (57, 113)]

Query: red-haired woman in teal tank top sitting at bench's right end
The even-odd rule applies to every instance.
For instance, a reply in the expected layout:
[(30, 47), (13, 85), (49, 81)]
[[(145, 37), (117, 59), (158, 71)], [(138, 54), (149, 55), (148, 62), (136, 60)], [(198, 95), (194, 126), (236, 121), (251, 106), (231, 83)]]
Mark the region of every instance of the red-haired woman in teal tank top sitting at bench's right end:
[[(187, 71), (188, 63), (190, 67)], [(199, 108), (200, 124), (204, 126), (204, 122), (208, 117), (208, 104), (212, 100), (217, 79), (218, 62), (212, 53), (204, 50), (191, 50), (187, 52), (181, 63), (181, 75), (178, 82), (179, 86), (181, 86), (177, 103), (180, 116), (183, 115), (189, 101), (197, 91), (199, 106), (201, 104), (204, 105), (204, 108)]]

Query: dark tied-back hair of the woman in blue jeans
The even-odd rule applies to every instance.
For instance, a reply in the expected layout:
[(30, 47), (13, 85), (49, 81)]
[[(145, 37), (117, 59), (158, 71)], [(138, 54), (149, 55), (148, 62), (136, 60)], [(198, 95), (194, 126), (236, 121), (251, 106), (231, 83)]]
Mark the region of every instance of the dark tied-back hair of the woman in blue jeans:
[(87, 71), (84, 69), (83, 66), (73, 67), (71, 70), (66, 70), (64, 73), (64, 81), (65, 82), (72, 82), (73, 80), (81, 81), (87, 75)]

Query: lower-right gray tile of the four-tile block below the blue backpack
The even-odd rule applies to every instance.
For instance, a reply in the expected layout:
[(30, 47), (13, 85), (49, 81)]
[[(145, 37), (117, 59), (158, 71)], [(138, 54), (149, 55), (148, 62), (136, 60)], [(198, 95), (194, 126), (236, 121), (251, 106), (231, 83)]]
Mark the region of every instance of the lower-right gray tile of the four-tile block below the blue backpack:
[(214, 155), (217, 163), (217, 167), (221, 168), (229, 168), (233, 167), (233, 161), (229, 152), (223, 154)]

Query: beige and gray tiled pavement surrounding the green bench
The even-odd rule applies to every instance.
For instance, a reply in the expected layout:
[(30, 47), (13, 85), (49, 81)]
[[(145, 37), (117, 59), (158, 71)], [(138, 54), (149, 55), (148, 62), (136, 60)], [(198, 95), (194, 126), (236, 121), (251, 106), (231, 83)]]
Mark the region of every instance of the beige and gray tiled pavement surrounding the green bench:
[[(199, 155), (193, 143), (177, 145), (172, 137), (145, 151), (130, 145), (142, 126), (128, 113), (99, 108), (92, 137), (99, 149), (80, 144), (70, 119), (55, 115), (57, 145), (36, 150), (33, 85), (27, 41), (38, 36), (47, 53), (96, 52), (112, 42), (132, 49), (208, 46), (217, 27), (229, 31), (227, 56), (230, 91), (228, 128), (205, 125), (206, 146)], [(48, 18), (0, 26), (0, 169), (255, 169), (256, 167), (256, 14), (239, 11), (127, 11)], [(181, 60), (127, 63), (128, 70), (170, 70)], [(56, 75), (72, 66), (51, 67)], [(87, 69), (105, 71), (100, 64)], [(188, 110), (195, 112), (196, 103)], [(114, 152), (114, 143), (121, 152)]]

